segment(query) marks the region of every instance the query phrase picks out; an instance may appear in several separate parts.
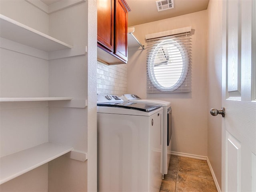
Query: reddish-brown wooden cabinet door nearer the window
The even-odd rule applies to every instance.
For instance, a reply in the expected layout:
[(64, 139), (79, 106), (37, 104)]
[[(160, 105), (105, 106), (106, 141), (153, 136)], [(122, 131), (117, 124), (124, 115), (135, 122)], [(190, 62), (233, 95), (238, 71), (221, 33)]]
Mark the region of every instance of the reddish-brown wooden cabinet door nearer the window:
[(128, 10), (126, 3), (122, 0), (116, 0), (116, 21), (115, 21), (115, 54), (127, 61), (127, 29), (128, 29)]

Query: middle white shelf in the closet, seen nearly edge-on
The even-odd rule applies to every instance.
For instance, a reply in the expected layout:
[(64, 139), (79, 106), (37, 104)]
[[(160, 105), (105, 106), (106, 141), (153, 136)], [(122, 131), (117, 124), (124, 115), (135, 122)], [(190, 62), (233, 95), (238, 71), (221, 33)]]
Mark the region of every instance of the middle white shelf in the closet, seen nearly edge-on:
[(0, 102), (16, 101), (60, 101), (72, 100), (73, 97), (0, 97)]

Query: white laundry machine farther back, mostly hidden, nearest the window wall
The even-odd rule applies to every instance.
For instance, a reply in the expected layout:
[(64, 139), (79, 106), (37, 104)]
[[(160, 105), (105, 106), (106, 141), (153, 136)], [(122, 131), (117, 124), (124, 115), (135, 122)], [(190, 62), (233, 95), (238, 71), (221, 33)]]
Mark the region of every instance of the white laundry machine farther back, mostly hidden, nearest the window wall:
[(121, 96), (122, 100), (124, 101), (133, 101), (137, 103), (147, 103), (147, 104), (154, 104), (160, 105), (164, 108), (164, 116), (162, 119), (163, 132), (162, 132), (162, 159), (161, 159), (161, 166), (162, 166), (162, 176), (168, 173), (168, 167), (170, 163), (170, 154), (168, 154), (168, 148), (171, 148), (171, 137), (172, 137), (172, 106), (171, 102), (162, 101), (162, 100), (151, 100), (151, 99), (141, 99), (139, 96), (135, 94), (124, 94)]

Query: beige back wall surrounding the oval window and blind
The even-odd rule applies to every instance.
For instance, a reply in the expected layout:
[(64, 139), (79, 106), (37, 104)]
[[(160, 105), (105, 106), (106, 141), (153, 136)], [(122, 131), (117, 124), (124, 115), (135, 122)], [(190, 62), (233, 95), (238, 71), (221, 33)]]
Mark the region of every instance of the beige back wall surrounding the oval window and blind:
[(172, 150), (207, 156), (207, 10), (134, 26), (134, 35), (142, 44), (145, 35), (191, 26), (192, 35), (192, 92), (146, 93), (146, 52), (128, 52), (128, 93), (142, 98), (172, 102)]

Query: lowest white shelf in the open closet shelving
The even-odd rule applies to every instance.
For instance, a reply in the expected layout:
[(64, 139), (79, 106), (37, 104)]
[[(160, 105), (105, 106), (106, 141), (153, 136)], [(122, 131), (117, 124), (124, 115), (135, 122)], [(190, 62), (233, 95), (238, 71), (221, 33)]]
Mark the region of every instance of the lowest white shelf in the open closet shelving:
[(54, 160), (73, 148), (50, 142), (0, 158), (0, 184)]

